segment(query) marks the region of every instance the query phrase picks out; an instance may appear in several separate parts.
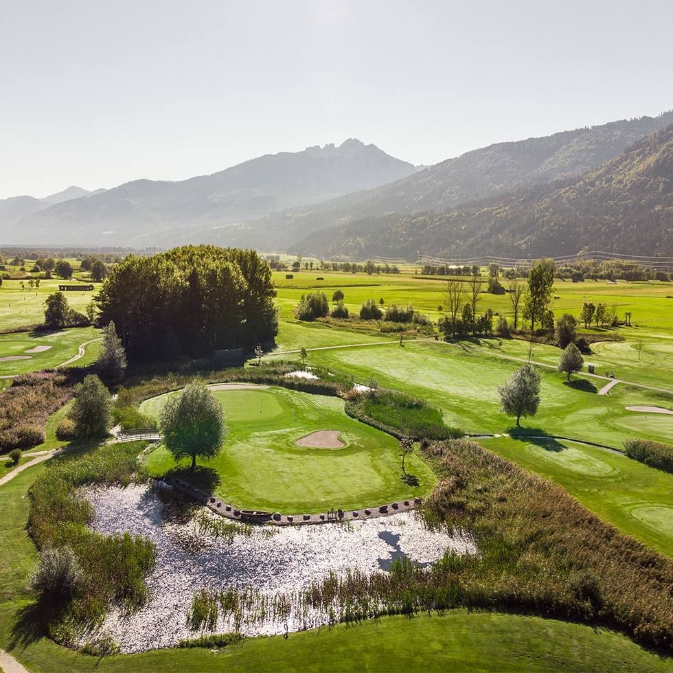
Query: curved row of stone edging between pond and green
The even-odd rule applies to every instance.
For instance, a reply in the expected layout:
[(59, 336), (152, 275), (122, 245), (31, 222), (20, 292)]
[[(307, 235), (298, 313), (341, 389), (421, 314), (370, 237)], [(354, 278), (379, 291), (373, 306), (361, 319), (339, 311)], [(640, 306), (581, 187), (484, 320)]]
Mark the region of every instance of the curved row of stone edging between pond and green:
[(379, 516), (388, 516), (398, 512), (409, 512), (421, 504), (420, 498), (402, 500), (387, 505), (377, 505), (376, 507), (363, 507), (361, 510), (330, 510), (319, 514), (280, 514), (280, 512), (262, 512), (259, 510), (240, 510), (229, 503), (225, 503), (211, 494), (195, 488), (183, 479), (175, 477), (164, 477), (157, 479), (155, 486), (159, 488), (173, 488), (185, 494), (188, 498), (205, 505), (209, 510), (231, 518), (233, 521), (242, 521), (244, 523), (260, 523), (277, 526), (296, 526), (318, 523), (338, 523), (340, 521), (365, 521)]

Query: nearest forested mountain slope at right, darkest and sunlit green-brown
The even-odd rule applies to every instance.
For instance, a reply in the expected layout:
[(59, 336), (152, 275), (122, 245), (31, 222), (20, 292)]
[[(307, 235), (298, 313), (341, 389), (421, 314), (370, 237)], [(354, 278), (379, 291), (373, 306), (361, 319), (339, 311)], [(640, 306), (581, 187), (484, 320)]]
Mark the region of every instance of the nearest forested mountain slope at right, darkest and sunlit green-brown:
[(313, 233), (294, 252), (415, 259), (599, 249), (673, 255), (673, 124), (580, 179), (527, 187), (442, 213), (365, 218)]

